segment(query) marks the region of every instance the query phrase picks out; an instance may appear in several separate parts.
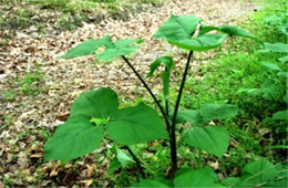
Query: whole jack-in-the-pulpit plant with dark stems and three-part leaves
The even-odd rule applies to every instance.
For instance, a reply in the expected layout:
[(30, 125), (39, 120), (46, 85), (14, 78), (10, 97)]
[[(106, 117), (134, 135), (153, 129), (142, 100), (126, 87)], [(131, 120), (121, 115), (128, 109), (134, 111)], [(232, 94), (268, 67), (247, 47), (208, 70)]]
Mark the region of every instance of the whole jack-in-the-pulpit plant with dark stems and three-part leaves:
[[(204, 104), (199, 109), (179, 111), (179, 104), (193, 54), (216, 49), (232, 35), (257, 41), (256, 36), (236, 27), (205, 25), (202, 23), (202, 19), (197, 17), (172, 15), (157, 30), (154, 38), (187, 50), (188, 56), (176, 102), (169, 100), (169, 77), (175, 67), (173, 59), (171, 56), (161, 56), (151, 64), (151, 71), (146, 77), (153, 76), (158, 66), (165, 66), (165, 70), (161, 73), (164, 103), (160, 103), (160, 96), (152, 92), (146, 81), (126, 58), (126, 55), (141, 48), (142, 40), (112, 41), (111, 36), (106, 35), (99, 40), (85, 41), (70, 50), (61, 58), (72, 59), (90, 54), (95, 54), (95, 58), (102, 61), (122, 58), (147, 90), (157, 106), (157, 111), (144, 103), (132, 107), (119, 108), (117, 94), (113, 90), (97, 88), (88, 91), (75, 100), (68, 121), (60, 125), (53, 136), (45, 143), (44, 160), (70, 160), (84, 156), (100, 146), (106, 133), (111, 140), (126, 148), (135, 160), (143, 178), (135, 186), (216, 186), (218, 179), (212, 168), (200, 168), (200, 165), (198, 165), (198, 169), (181, 169), (178, 167), (175, 132), (177, 130), (176, 124), (189, 124), (189, 127), (183, 129), (182, 139), (188, 146), (199, 149), (199, 154), (202, 150), (205, 150), (220, 158), (227, 150), (229, 134), (223, 127), (207, 125), (207, 123), (214, 119), (236, 116), (238, 112), (237, 106), (232, 104)], [(97, 49), (101, 46), (104, 46), (105, 51), (97, 53)], [(171, 167), (167, 175), (171, 179), (169, 185), (153, 179), (145, 179), (147, 173), (145, 173), (141, 160), (130, 147), (131, 145), (156, 139), (164, 139), (169, 145)], [(249, 181), (246, 180), (246, 182)], [(240, 179), (237, 181), (237, 185), (240, 185)]]

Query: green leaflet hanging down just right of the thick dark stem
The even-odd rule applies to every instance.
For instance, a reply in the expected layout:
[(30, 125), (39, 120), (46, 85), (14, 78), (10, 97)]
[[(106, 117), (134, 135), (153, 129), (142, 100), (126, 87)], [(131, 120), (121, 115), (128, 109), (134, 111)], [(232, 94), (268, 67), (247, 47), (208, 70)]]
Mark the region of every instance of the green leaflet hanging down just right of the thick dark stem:
[(229, 145), (228, 133), (217, 126), (189, 127), (184, 130), (182, 137), (189, 146), (204, 149), (219, 158)]

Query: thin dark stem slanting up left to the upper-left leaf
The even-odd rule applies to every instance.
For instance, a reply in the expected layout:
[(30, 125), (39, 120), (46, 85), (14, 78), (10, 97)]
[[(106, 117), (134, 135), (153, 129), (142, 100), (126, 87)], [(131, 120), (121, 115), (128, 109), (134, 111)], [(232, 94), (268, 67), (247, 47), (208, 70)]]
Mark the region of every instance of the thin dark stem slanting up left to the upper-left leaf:
[(142, 79), (142, 76), (138, 74), (138, 72), (134, 69), (134, 66), (130, 63), (130, 61), (124, 56), (121, 55), (122, 59), (128, 64), (128, 66), (132, 69), (132, 71), (136, 74), (136, 76), (138, 77), (138, 80), (141, 81), (141, 83), (144, 85), (144, 87), (148, 91), (150, 95), (152, 96), (152, 98), (154, 100), (154, 102), (156, 103), (156, 105), (158, 106), (164, 119), (165, 119), (165, 124), (167, 127), (167, 132), (169, 133), (171, 129), (171, 123), (169, 123), (169, 118), (167, 116), (167, 114), (165, 113), (164, 108), (162, 107), (162, 105), (160, 104), (158, 100), (156, 98), (156, 96), (153, 94), (153, 92), (151, 91), (150, 86), (146, 84), (146, 82)]

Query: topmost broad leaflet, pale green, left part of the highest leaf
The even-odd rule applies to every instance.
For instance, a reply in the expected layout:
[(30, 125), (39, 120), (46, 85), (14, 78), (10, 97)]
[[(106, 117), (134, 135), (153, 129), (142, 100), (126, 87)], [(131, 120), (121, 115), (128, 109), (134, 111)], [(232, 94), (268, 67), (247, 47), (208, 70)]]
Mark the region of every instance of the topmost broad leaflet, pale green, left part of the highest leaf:
[(161, 25), (154, 35), (155, 39), (163, 39), (165, 41), (188, 39), (197, 29), (202, 19), (189, 15), (171, 15), (167, 22)]

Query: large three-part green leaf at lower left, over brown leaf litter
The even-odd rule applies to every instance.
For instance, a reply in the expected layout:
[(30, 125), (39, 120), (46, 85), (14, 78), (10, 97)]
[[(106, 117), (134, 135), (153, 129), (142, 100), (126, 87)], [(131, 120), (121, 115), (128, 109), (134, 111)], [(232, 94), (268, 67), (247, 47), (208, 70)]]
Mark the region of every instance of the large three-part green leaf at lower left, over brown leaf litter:
[(45, 143), (45, 160), (69, 160), (93, 152), (100, 146), (104, 127), (110, 138), (124, 145), (168, 137), (160, 115), (152, 107), (140, 104), (119, 109), (116, 93), (100, 88), (78, 97), (66, 123), (60, 125)]

